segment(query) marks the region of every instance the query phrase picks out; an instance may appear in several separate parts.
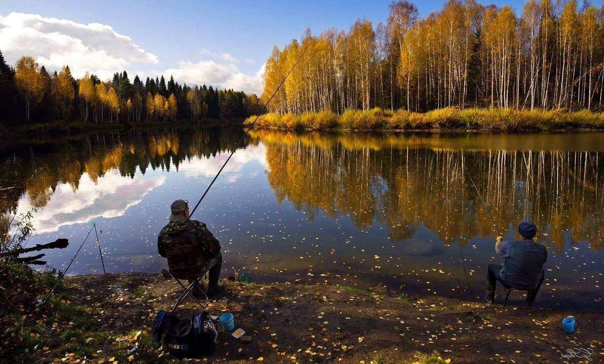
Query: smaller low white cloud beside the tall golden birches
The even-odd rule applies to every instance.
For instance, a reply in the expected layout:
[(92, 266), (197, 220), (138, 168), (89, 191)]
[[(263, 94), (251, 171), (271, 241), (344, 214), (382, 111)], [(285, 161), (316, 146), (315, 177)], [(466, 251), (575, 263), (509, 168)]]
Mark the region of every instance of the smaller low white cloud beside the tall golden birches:
[[(224, 55), (228, 56), (224, 56)], [(220, 60), (199, 60), (199, 62), (182, 61), (178, 68), (169, 68), (165, 75), (173, 75), (175, 80), (195, 85), (213, 85), (219, 88), (241, 90), (257, 95), (262, 93), (262, 74), (264, 65), (254, 74), (240, 71), (235, 62), (230, 62), (228, 53), (223, 53)], [(234, 57), (233, 57), (234, 59)]]

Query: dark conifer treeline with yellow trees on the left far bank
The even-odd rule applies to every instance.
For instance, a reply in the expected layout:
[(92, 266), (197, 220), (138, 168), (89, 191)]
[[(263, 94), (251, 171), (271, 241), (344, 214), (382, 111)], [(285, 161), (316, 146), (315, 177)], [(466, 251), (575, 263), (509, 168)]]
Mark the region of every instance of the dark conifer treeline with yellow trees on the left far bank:
[(0, 123), (84, 123), (234, 120), (263, 111), (255, 94), (213, 86), (188, 86), (170, 77), (144, 81), (126, 71), (101, 81), (86, 73), (76, 80), (68, 66), (49, 74), (31, 57), (8, 65), (0, 51)]

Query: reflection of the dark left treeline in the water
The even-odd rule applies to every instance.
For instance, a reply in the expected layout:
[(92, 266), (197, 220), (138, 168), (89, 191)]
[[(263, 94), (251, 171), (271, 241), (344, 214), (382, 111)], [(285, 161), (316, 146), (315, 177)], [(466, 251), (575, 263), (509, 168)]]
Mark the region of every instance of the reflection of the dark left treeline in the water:
[(239, 128), (101, 133), (76, 141), (16, 148), (1, 159), (5, 162), (0, 170), (0, 212), (16, 211), (25, 193), (32, 206), (43, 207), (58, 184), (77, 190), (83, 173), (96, 182), (116, 169), (132, 178), (137, 168), (143, 174), (149, 168), (178, 169), (185, 159), (230, 151), (242, 133)]

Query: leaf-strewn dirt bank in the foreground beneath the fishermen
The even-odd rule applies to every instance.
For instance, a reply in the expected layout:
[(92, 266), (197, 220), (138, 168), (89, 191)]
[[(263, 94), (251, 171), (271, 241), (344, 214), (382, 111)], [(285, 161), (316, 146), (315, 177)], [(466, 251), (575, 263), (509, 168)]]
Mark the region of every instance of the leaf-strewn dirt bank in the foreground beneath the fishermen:
[[(36, 295), (55, 282), (49, 273), (10, 269), (11, 282), (28, 279), (27, 290), (1, 307), (0, 351), (10, 362), (177, 363), (151, 336), (156, 313), (172, 306), (181, 288), (151, 273), (109, 273), (65, 277), (47, 305)], [(247, 360), (291, 363), (487, 363), (558, 362), (569, 348), (594, 348), (597, 359), (602, 313), (526, 311), (522, 298), (502, 310), (494, 305), (436, 295), (407, 295), (384, 286), (314, 283), (237, 283), (212, 299), (211, 315), (231, 312), (236, 327), (252, 337), (242, 343), (219, 333), (216, 351), (201, 362)], [(23, 287), (26, 287), (23, 286)], [(8, 286), (13, 287), (16, 286)], [(185, 318), (200, 308), (179, 307)], [(565, 334), (561, 320), (579, 325)], [(505, 348), (502, 348), (502, 342)], [(136, 350), (133, 350), (136, 348)], [(262, 359), (261, 359), (262, 358)]]

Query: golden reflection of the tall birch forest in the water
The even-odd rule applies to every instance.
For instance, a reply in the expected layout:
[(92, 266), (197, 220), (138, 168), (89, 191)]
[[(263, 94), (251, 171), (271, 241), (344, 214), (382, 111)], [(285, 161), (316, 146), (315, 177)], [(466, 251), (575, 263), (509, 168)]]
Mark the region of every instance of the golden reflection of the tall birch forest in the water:
[[(384, 222), (391, 238), (422, 222), (450, 244), (532, 219), (558, 251), (571, 240), (599, 249), (604, 238), (604, 167), (597, 152), (417, 148), (425, 137), (254, 132), (266, 144), (268, 180), (279, 201), (312, 218), (350, 216), (359, 228)], [(424, 139), (421, 141), (421, 139)], [(417, 143), (416, 143), (417, 142)], [(547, 234), (547, 235), (546, 235)]]

